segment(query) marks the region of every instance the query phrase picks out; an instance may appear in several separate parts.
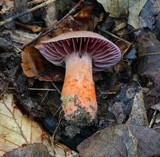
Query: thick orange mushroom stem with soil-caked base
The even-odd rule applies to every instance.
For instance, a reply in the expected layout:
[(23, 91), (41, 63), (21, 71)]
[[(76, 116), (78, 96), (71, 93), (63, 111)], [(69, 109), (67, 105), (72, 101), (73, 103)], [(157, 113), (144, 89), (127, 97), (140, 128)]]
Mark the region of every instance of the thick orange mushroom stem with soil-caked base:
[(66, 74), (61, 101), (65, 118), (74, 123), (91, 122), (97, 112), (95, 87), (92, 76), (92, 58), (84, 53), (66, 57)]

